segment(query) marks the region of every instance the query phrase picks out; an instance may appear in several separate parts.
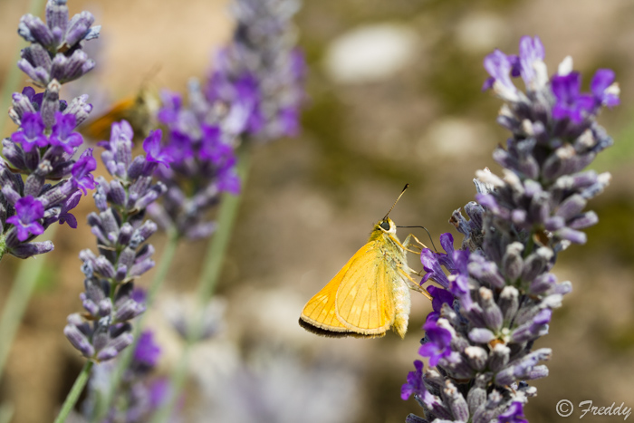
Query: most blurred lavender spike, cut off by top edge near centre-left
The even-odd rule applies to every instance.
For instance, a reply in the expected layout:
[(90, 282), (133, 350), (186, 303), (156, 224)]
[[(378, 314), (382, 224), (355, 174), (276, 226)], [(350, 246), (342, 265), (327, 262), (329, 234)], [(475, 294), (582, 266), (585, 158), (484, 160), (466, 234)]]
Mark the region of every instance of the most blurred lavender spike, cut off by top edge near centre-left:
[(234, 39), (216, 55), (205, 92), (229, 104), (227, 127), (249, 139), (293, 136), (299, 129), (305, 64), (294, 45), (296, 0), (237, 0)]

